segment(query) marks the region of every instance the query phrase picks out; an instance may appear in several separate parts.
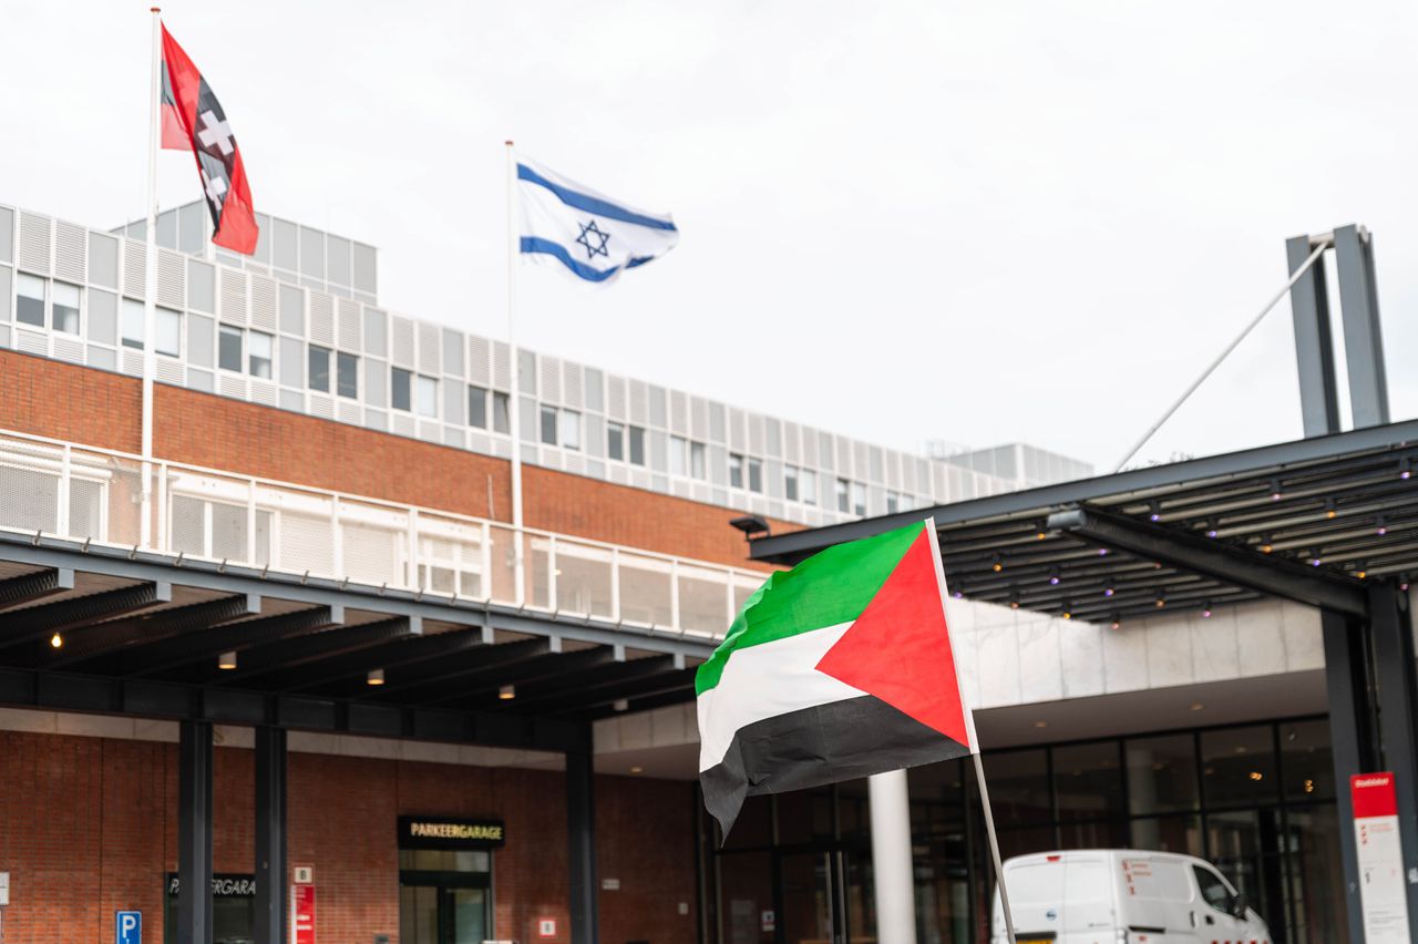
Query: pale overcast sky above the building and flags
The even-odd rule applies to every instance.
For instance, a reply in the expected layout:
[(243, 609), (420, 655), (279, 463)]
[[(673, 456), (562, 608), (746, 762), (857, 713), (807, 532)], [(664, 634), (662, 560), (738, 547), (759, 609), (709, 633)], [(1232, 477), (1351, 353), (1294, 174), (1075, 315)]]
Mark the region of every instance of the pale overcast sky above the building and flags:
[[(143, 213), (147, 3), (6, 3), (0, 201)], [(675, 214), (604, 289), (526, 268), (520, 340), (919, 449), (1110, 468), (1285, 281), (1375, 235), (1418, 414), (1412, 3), (176, 0), (258, 210), (372, 242), (390, 308), (506, 335), (506, 137)], [(199, 196), (164, 152), (164, 206)], [(1334, 296), (1337, 300), (1337, 295)], [(1143, 458), (1297, 438), (1289, 306)]]

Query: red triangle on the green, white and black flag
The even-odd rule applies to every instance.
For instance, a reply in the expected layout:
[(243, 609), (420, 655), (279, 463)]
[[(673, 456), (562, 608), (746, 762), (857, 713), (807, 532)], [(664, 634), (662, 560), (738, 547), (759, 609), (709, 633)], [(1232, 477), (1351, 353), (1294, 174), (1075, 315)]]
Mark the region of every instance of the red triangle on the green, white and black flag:
[(818, 661), (817, 670), (968, 748), (933, 540), (934, 529), (922, 530), (862, 615)]

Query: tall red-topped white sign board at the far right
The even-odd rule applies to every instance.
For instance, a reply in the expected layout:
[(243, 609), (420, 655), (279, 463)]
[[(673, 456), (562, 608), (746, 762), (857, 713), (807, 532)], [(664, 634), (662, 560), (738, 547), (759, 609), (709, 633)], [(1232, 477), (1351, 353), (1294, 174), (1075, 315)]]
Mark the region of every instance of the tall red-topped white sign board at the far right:
[(1408, 890), (1398, 835), (1398, 795), (1392, 772), (1349, 778), (1354, 802), (1354, 842), (1358, 849), (1358, 887), (1368, 944), (1407, 944)]

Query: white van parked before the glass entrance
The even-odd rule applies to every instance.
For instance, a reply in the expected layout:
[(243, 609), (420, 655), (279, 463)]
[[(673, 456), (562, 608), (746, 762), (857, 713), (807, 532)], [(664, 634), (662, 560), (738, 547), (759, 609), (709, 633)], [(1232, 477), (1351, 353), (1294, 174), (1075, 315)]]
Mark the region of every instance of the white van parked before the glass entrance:
[[(1245, 894), (1202, 859), (1078, 849), (1004, 863), (1018, 944), (1271, 944)], [(1000, 890), (991, 944), (1008, 944)]]

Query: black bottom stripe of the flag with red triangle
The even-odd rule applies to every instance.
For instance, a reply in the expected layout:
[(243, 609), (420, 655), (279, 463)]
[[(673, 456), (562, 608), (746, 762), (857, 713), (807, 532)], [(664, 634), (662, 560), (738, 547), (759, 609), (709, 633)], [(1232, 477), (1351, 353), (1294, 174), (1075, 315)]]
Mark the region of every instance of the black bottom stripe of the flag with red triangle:
[(749, 797), (968, 755), (964, 744), (865, 695), (739, 729), (723, 760), (700, 771), (699, 782), (722, 838)]

